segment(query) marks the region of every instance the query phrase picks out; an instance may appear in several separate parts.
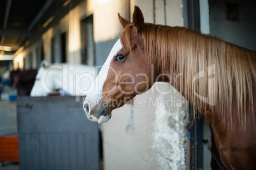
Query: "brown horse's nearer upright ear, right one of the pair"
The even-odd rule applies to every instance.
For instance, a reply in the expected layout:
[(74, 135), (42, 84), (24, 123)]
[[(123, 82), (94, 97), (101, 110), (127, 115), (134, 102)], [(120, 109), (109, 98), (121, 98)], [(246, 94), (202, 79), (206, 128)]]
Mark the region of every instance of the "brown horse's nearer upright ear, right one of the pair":
[(136, 29), (136, 32), (141, 32), (144, 25), (144, 17), (141, 9), (138, 6), (134, 7), (134, 12), (132, 15), (132, 25)]

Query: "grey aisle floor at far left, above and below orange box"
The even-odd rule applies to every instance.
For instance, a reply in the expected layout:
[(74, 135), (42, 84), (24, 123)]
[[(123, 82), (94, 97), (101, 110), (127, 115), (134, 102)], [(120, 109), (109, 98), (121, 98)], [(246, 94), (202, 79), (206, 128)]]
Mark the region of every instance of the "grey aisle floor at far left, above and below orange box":
[[(17, 133), (17, 110), (16, 102), (8, 101), (8, 95), (13, 93), (13, 89), (4, 86), (0, 100), (0, 136), (8, 133)], [(0, 170), (18, 170), (18, 163), (0, 162)]]

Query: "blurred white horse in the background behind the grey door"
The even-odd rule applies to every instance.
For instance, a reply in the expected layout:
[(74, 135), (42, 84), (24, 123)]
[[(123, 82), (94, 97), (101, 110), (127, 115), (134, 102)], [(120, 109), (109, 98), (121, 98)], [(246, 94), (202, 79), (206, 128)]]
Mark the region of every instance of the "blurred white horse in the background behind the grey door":
[(92, 66), (41, 64), (30, 95), (87, 95), (95, 77), (96, 68)]

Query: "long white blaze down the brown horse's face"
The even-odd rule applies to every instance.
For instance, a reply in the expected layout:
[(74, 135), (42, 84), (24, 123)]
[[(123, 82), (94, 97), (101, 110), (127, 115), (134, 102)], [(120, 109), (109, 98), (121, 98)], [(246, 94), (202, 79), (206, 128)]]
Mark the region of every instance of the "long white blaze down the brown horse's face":
[(110, 69), (110, 63), (113, 59), (113, 56), (117, 55), (117, 52), (120, 51), (120, 49), (122, 48), (123, 46), (121, 44), (121, 41), (120, 39), (118, 39), (118, 41), (115, 43), (115, 45), (111, 49), (106, 62), (104, 63), (101, 71), (99, 72), (99, 75), (97, 75), (96, 80), (94, 81), (94, 84), (93, 84), (94, 90), (85, 98), (85, 102), (87, 101), (87, 103), (89, 103), (90, 105), (89, 114), (92, 111), (94, 105), (96, 105), (101, 100), (103, 96), (102, 94), (103, 84), (106, 81), (108, 70)]

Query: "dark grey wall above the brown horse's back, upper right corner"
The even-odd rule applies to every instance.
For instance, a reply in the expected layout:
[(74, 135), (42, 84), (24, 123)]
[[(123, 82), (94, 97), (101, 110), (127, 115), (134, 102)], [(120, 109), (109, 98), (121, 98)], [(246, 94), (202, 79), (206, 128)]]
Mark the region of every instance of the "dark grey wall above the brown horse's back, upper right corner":
[[(238, 8), (227, 4), (237, 4)], [(211, 35), (256, 50), (256, 1), (210, 0), (209, 6)], [(231, 17), (229, 20), (227, 13)]]

